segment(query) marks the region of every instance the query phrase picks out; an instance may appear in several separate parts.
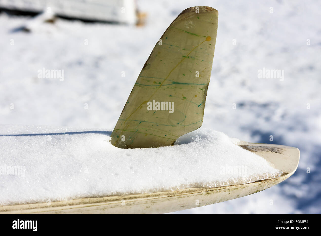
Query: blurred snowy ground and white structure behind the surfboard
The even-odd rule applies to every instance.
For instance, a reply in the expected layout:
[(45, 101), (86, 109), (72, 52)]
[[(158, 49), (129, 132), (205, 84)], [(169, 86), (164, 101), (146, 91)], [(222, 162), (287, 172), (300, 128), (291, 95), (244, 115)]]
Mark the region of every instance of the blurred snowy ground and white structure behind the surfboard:
[[(272, 188), (177, 213), (321, 213), (317, 0), (0, 0), (0, 124), (112, 130), (160, 36), (198, 5), (219, 11), (202, 127), (301, 156)], [(39, 78), (43, 68), (64, 77)], [(258, 78), (263, 68), (284, 80)]]

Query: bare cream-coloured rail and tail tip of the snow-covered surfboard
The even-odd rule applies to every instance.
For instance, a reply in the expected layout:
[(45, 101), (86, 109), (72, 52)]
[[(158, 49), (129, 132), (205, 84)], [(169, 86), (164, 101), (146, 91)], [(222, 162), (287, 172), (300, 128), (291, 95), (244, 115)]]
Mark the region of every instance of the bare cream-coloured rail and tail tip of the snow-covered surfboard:
[(229, 185), (216, 188), (186, 188), (151, 194), (81, 198), (69, 201), (0, 206), (2, 214), (154, 214), (168, 213), (228, 201), (270, 188), (289, 178), (297, 169), (300, 151), (298, 148), (248, 143), (242, 148), (249, 150), (272, 163), (283, 172), (274, 179), (253, 183)]

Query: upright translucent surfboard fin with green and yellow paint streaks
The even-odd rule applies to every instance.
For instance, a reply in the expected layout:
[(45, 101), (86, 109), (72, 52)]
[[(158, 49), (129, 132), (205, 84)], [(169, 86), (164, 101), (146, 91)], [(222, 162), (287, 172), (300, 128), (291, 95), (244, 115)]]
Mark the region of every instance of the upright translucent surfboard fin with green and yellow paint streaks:
[(169, 146), (203, 123), (218, 24), (208, 6), (184, 10), (147, 59), (111, 134), (120, 148)]

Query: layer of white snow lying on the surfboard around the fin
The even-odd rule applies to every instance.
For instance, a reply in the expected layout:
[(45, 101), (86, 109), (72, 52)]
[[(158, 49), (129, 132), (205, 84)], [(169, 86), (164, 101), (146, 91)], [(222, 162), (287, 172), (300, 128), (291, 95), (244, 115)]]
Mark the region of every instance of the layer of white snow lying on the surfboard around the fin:
[[(191, 132), (174, 146), (121, 149), (110, 143), (106, 130), (0, 127), (5, 163), (0, 205), (211, 188), (280, 176), (264, 158), (213, 130)], [(22, 171), (4, 172), (15, 166)]]

